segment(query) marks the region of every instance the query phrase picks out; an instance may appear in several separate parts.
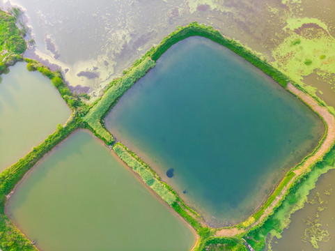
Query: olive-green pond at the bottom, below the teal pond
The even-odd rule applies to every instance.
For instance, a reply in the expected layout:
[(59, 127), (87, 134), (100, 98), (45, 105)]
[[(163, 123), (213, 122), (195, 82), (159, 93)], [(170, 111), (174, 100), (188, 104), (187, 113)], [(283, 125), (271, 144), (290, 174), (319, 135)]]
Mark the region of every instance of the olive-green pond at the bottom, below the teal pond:
[(6, 213), (44, 251), (186, 251), (195, 242), (191, 229), (85, 130), (33, 167)]

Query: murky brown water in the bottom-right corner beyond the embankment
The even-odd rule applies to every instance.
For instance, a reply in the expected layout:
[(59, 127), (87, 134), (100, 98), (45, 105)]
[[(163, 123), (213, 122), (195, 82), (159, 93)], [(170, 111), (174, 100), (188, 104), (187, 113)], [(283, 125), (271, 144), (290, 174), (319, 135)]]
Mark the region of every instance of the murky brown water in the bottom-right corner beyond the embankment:
[(272, 250), (334, 250), (335, 170), (322, 174), (304, 208), (291, 216), (288, 229), (274, 238)]

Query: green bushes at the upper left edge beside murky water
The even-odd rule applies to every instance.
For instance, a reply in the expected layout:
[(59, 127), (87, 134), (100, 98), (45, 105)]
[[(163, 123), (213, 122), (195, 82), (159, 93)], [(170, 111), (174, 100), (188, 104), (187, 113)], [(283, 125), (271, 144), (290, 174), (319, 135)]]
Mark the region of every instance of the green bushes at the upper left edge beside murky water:
[(15, 22), (15, 17), (0, 10), (0, 73), (22, 60), (21, 54), (26, 50), (26, 42)]

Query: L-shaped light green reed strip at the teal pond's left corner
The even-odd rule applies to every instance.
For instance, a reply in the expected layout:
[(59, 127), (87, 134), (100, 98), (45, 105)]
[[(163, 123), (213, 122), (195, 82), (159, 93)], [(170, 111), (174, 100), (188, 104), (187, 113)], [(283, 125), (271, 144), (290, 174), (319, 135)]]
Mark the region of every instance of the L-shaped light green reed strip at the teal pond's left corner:
[(102, 126), (102, 119), (104, 119), (104, 116), (107, 115), (111, 107), (118, 102), (120, 97), (154, 66), (155, 62), (146, 57), (146, 59), (129, 70), (124, 77), (111, 82), (101, 100), (84, 116), (84, 121), (88, 124), (88, 128), (93, 130), (95, 135), (104, 140), (106, 144), (113, 143), (114, 139), (104, 126)]

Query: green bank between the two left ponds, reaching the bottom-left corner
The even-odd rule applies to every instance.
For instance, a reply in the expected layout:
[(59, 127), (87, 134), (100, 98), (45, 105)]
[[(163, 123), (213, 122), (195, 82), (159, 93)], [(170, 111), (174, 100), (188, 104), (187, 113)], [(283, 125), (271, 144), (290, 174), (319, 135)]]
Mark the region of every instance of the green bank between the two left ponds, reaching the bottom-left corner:
[(6, 195), (13, 190), (17, 182), (19, 182), (24, 174), (33, 167), (33, 165), (42, 158), (45, 153), (59, 144), (63, 139), (68, 137), (81, 125), (79, 117), (72, 117), (64, 126), (57, 126), (56, 132), (49, 135), (44, 142), (34, 147), (24, 158), (17, 163), (8, 167), (0, 173), (0, 248), (5, 250), (36, 250), (31, 243), (20, 233), (19, 230), (4, 215), (4, 204)]

